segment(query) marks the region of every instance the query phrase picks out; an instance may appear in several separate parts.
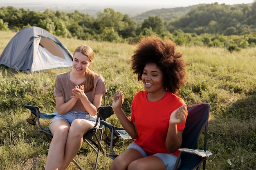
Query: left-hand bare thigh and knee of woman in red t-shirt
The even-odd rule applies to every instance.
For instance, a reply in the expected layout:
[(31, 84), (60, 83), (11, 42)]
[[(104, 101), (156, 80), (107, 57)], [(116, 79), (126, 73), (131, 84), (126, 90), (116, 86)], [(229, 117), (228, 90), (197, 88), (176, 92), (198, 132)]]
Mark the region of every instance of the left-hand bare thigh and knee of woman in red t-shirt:
[(127, 149), (114, 159), (110, 166), (110, 170), (127, 170), (132, 161), (142, 158), (139, 151), (135, 149)]

